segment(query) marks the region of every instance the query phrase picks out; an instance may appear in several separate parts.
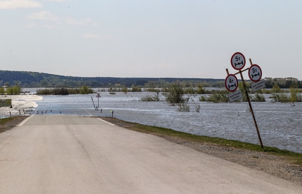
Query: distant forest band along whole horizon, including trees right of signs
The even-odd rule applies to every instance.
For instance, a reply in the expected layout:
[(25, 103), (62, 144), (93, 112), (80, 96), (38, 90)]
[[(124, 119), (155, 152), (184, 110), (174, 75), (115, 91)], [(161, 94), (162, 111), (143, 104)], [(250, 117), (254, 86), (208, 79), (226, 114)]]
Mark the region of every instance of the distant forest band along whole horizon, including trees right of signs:
[[(275, 83), (280, 88), (289, 88), (296, 83), (302, 88), (302, 81), (297, 78), (264, 78), (267, 88), (272, 88)], [(225, 87), (224, 79), (210, 78), (113, 78), (113, 77), (72, 77), (53, 75), (39, 72), (3, 71), (0, 70), (0, 86), (13, 86), (20, 84), (21, 87), (64, 87), (79, 88), (82, 85), (88, 87), (132, 87), (144, 88), (165, 87), (169, 83), (180, 81), (185, 87)], [(239, 80), (240, 81), (240, 80)]]

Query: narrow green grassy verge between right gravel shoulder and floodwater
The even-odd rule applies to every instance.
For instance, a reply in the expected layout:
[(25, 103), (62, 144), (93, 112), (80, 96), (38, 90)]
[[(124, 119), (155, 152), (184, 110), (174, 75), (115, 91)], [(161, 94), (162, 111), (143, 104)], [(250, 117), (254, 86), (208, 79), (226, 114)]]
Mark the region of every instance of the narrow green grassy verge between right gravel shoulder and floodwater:
[(153, 135), (158, 135), (158, 136), (168, 135), (168, 136), (171, 136), (174, 138), (178, 138), (182, 141), (191, 141), (191, 142), (197, 142), (197, 143), (211, 143), (211, 144), (216, 144), (216, 145), (221, 145), (221, 146), (226, 146), (226, 147), (266, 152), (266, 153), (275, 154), (278, 156), (286, 156), (286, 157), (288, 157), (288, 159), (293, 161), (293, 164), (302, 165), (302, 154), (296, 153), (293, 151), (281, 150), (281, 149), (278, 149), (275, 147), (268, 147), (268, 146), (264, 146), (264, 148), (262, 149), (260, 145), (255, 145), (255, 144), (246, 143), (246, 142), (240, 142), (240, 141), (236, 141), (236, 140), (229, 140), (229, 139), (224, 139), (224, 138), (201, 136), (201, 135), (193, 135), (190, 133), (179, 132), (179, 131), (175, 131), (172, 129), (156, 127), (156, 126), (147, 126), (147, 125), (142, 125), (142, 124), (134, 123), (134, 122), (127, 122), (127, 121), (123, 121), (123, 120), (115, 119), (115, 118), (114, 119), (108, 118), (108, 119), (110, 119), (111, 121), (113, 121), (112, 123), (117, 124), (117, 125), (118, 125), (118, 122), (122, 122), (122, 123), (124, 123), (124, 125), (123, 124), (121, 125), (122, 127), (133, 130), (133, 131), (137, 131), (137, 132), (148, 133), (148, 134), (153, 134)]

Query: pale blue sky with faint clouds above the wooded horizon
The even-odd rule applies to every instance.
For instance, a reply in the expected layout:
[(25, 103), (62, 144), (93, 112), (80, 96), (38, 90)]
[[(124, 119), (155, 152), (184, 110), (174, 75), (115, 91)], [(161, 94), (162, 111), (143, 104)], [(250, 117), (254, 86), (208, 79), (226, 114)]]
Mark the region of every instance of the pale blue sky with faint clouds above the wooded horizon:
[(224, 79), (241, 52), (262, 78), (302, 80), (301, 10), (300, 0), (0, 0), (0, 69)]

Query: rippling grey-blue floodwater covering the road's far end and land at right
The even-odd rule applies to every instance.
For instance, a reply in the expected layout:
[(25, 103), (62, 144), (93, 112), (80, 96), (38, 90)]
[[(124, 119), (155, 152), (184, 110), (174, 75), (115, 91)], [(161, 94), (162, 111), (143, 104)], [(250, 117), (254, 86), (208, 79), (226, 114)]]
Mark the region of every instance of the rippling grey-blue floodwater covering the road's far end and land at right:
[[(48, 110), (47, 114), (85, 116), (111, 116), (113, 111), (114, 117), (130, 122), (259, 144), (247, 102), (207, 103), (199, 102), (198, 97), (194, 97), (194, 102), (188, 102), (190, 112), (178, 112), (177, 106), (170, 106), (167, 102), (138, 101), (146, 94), (156, 93), (99, 93), (99, 102), (97, 94), (43, 96), (43, 100), (36, 101), (36, 110), (39, 114), (42, 110)], [(95, 106), (99, 104), (99, 110), (95, 110), (92, 97)], [(194, 110), (194, 103), (200, 103), (200, 112)], [(263, 145), (302, 153), (302, 103), (291, 105), (252, 102)]]

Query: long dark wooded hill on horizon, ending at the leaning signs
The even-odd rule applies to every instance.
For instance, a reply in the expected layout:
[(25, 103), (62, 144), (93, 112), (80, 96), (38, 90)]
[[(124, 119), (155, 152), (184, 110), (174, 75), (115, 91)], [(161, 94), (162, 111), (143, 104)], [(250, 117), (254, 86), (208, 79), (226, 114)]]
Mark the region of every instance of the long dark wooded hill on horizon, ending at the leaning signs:
[[(22, 87), (80, 87), (85, 84), (88, 87), (113, 87), (120, 84), (126, 87), (145, 86), (156, 87), (174, 81), (187, 81), (191, 83), (215, 83), (224, 82), (224, 79), (213, 78), (115, 78), (115, 77), (74, 77), (54, 75), (39, 72), (6, 71), (0, 70), (0, 86), (20, 84)], [(157, 83), (156, 83), (157, 82)], [(222, 87), (220, 86), (213, 87)], [(212, 86), (210, 86), (212, 87)]]

